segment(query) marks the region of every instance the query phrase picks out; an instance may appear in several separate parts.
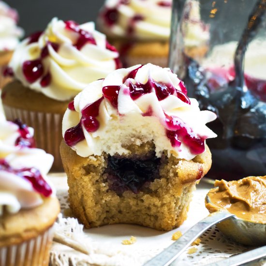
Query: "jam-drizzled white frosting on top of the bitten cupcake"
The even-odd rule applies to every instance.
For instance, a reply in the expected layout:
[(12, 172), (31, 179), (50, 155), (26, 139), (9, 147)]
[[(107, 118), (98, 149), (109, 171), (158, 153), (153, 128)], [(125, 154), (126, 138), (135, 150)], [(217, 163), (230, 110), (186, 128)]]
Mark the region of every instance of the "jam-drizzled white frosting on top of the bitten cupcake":
[(216, 136), (206, 126), (215, 118), (188, 98), (169, 68), (147, 64), (90, 83), (69, 104), (62, 129), (66, 144), (82, 157), (128, 154), (128, 145), (152, 141), (157, 157), (166, 150), (191, 160)]

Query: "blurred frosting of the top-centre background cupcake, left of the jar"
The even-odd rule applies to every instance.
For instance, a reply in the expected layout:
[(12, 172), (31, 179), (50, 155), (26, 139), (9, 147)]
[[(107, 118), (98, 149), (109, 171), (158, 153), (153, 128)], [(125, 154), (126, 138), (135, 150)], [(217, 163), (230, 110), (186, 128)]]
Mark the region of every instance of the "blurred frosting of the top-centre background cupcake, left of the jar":
[[(123, 2), (121, 0), (105, 1), (98, 24), (107, 35), (128, 37), (132, 34), (134, 38), (141, 40), (168, 40), (171, 6), (167, 6), (167, 3), (171, 4), (172, 0), (125, 0)], [(163, 2), (166, 6), (163, 6)], [(117, 13), (117, 19), (112, 25), (108, 25), (108, 18), (106, 21), (106, 12), (110, 10), (116, 10)], [(110, 14), (111, 19), (113, 15)]]

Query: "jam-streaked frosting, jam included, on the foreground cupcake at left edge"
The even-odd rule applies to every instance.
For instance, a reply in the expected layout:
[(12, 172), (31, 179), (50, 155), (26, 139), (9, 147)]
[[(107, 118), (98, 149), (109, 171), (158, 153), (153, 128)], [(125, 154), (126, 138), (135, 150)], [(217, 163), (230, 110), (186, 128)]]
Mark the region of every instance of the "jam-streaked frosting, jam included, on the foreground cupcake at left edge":
[(39, 206), (53, 194), (45, 180), (53, 156), (33, 147), (32, 128), (0, 121), (0, 215)]

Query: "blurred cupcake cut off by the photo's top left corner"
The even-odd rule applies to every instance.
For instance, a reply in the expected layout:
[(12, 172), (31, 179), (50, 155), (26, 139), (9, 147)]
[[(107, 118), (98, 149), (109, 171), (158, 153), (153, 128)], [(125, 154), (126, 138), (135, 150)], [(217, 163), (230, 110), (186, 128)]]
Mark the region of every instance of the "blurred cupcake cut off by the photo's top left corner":
[(23, 30), (16, 26), (18, 15), (15, 9), (0, 1), (0, 89), (10, 80), (4, 71), (13, 51), (23, 36)]

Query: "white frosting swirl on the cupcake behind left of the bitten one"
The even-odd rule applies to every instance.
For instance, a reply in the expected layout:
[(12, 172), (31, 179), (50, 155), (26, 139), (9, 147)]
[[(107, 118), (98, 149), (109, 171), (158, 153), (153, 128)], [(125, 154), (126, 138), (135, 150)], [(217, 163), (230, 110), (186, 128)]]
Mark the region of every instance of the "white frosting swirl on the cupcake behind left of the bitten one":
[[(88, 32), (96, 44), (85, 43), (80, 49), (75, 47), (80, 35), (66, 28), (66, 23), (53, 18), (38, 42), (24, 40), (15, 50), (10, 62), (15, 77), (30, 89), (44, 93), (58, 101), (73, 98), (90, 82), (104, 78), (115, 70), (118, 52), (106, 48), (106, 37), (94, 29), (94, 23), (88, 22), (75, 26), (77, 30)], [(55, 49), (51, 43), (58, 46)], [(40, 59), (42, 50), (47, 45), (47, 55), (41, 59), (44, 74), (29, 82), (23, 73), (23, 63), (27, 60)], [(42, 87), (42, 78), (50, 74), (51, 80)]]

